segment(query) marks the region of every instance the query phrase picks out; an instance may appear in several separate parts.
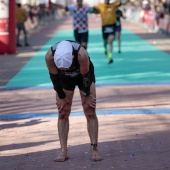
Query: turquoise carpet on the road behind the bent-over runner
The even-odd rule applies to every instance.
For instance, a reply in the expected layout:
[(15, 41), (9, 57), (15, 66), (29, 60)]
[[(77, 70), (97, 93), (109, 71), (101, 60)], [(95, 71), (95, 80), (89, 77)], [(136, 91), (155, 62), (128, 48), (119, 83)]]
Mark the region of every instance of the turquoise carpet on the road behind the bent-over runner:
[[(33, 56), (5, 88), (52, 87), (44, 56), (54, 43), (73, 39), (72, 30), (59, 31)], [(96, 85), (170, 84), (170, 55), (131, 31), (122, 31), (122, 53), (114, 42), (114, 64), (103, 53), (100, 29), (89, 32), (88, 53), (95, 66)]]

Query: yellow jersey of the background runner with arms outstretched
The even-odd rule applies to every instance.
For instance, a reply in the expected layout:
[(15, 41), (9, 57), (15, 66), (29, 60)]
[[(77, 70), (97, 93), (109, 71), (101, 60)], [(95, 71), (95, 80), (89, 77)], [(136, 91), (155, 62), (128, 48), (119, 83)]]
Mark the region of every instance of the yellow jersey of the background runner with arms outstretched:
[(111, 4), (99, 4), (94, 6), (101, 15), (102, 26), (112, 25), (116, 23), (116, 7), (120, 6), (121, 2), (117, 1)]

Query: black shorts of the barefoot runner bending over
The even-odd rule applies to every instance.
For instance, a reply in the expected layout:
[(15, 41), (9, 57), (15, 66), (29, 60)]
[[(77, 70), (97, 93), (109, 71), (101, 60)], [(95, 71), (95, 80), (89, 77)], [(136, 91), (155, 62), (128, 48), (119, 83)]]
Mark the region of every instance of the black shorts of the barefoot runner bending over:
[[(96, 82), (95, 75), (94, 75), (94, 66), (93, 63), (90, 61), (89, 66), (89, 74), (90, 74), (90, 85), (92, 82)], [(82, 88), (82, 75), (79, 74), (76, 77), (68, 77), (68, 76), (60, 76), (60, 83), (63, 89), (73, 91), (76, 86), (80, 90), (83, 90)]]

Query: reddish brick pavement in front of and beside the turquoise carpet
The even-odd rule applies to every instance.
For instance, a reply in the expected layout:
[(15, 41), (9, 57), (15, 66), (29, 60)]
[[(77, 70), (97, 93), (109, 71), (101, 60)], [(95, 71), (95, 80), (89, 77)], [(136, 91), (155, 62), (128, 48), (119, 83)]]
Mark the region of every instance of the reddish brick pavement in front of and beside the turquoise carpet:
[[(90, 18), (90, 27), (99, 27), (97, 21)], [(16, 55), (0, 56), (0, 86), (4, 86), (57, 29), (68, 29), (71, 24), (70, 18), (48, 23), (51, 27), (30, 35), (32, 47), (17, 49)], [(131, 23), (124, 22), (124, 26), (170, 54), (170, 40), (165, 35), (148, 32)], [(0, 121), (0, 170), (170, 169), (169, 85), (97, 87), (97, 110), (110, 110), (98, 115), (99, 152), (104, 158), (100, 162), (89, 159), (89, 138), (82, 114), (70, 117), (70, 159), (53, 162), (59, 152), (57, 116), (52, 114), (56, 112), (54, 98), (52, 89), (33, 89), (31, 93), (30, 89), (0, 91), (0, 115), (17, 115), (13, 120)], [(126, 114), (121, 114), (120, 108), (125, 109)], [(45, 116), (34, 117), (40, 110)], [(82, 110), (77, 90), (72, 110), (76, 113)], [(113, 110), (117, 114), (112, 113)], [(132, 110), (132, 114), (128, 114)], [(19, 119), (27, 114), (30, 118)]]

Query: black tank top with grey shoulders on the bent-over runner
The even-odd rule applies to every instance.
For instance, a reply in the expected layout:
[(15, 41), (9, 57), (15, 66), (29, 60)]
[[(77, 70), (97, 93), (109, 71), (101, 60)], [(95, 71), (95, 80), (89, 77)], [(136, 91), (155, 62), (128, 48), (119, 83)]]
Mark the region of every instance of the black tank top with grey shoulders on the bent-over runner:
[[(74, 55), (73, 62), (67, 71), (60, 70), (59, 68), (57, 68), (57, 69), (59, 71), (60, 76), (77, 77), (78, 75), (80, 75), (80, 65), (78, 63), (78, 52), (82, 46), (77, 41), (72, 41), (72, 40), (66, 40), (66, 41), (69, 41), (73, 47), (73, 55)], [(58, 43), (54, 44), (51, 47), (53, 56), (56, 51), (56, 47), (57, 47)]]

